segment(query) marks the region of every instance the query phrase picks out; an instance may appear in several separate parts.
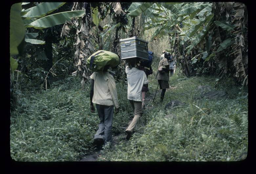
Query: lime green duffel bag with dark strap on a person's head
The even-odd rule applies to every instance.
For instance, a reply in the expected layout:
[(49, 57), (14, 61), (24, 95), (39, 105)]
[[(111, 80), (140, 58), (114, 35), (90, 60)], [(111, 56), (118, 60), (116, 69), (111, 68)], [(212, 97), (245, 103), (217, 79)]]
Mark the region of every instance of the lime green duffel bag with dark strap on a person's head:
[(105, 50), (99, 50), (95, 52), (86, 60), (86, 66), (93, 72), (102, 71), (106, 65), (109, 65), (111, 68), (113, 68), (118, 64), (118, 55)]

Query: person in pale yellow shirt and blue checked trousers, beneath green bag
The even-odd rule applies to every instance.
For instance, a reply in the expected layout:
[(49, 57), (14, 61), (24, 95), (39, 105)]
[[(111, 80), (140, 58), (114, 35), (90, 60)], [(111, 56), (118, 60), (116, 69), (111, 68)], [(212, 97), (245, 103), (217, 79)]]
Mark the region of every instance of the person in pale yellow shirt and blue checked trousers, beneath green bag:
[(99, 116), (99, 126), (94, 135), (94, 145), (101, 149), (101, 145), (112, 143), (112, 122), (113, 108), (116, 106), (116, 112), (119, 111), (117, 89), (114, 77), (107, 71), (109, 66), (105, 66), (101, 72), (94, 72), (90, 78), (91, 92), (90, 104), (91, 112), (95, 112), (93, 103)]

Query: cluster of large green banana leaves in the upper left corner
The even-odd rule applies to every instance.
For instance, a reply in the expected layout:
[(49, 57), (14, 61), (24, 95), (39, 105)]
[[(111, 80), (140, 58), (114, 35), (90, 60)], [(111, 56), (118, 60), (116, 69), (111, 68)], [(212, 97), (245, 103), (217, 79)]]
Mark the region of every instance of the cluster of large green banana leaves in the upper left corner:
[(29, 9), (22, 9), (22, 5), (27, 3), (16, 3), (11, 6), (10, 13), (10, 61), (11, 72), (17, 68), (17, 61), (14, 55), (21, 54), (20, 44), (30, 42), (32, 44), (45, 44), (45, 41), (36, 40), (38, 33), (26, 33), (26, 28), (34, 27), (43, 29), (58, 24), (64, 24), (74, 18), (81, 17), (85, 14), (84, 10), (65, 11), (61, 13), (50, 14), (54, 10), (63, 6), (63, 2), (44, 2)]

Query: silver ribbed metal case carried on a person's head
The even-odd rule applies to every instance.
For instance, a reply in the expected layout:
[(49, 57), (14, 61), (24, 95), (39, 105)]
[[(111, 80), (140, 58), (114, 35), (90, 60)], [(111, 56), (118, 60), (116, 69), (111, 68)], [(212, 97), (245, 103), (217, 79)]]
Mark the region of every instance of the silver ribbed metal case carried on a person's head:
[(131, 59), (138, 57), (148, 60), (148, 42), (138, 37), (120, 39), (121, 59)]

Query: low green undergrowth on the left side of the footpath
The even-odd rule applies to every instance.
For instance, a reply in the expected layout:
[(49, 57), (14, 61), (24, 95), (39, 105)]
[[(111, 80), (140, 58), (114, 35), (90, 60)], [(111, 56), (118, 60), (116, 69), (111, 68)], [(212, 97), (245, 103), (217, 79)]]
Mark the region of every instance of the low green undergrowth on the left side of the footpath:
[[(12, 159), (76, 161), (94, 150), (99, 119), (90, 112), (90, 84), (80, 87), (80, 79), (69, 77), (53, 89), (23, 94), (20, 106), (11, 112)], [(114, 115), (113, 135), (128, 123), (125, 105), (121, 102), (121, 112)]]

